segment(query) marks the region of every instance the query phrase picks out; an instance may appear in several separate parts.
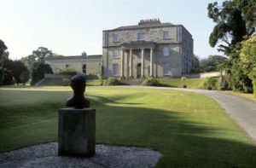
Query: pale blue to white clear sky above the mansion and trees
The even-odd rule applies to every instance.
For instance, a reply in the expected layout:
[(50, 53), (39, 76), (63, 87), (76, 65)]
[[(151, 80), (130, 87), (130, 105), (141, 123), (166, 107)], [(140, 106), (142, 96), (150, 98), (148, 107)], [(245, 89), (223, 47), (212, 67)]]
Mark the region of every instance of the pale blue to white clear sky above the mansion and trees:
[[(102, 54), (102, 30), (160, 18), (185, 26), (194, 54), (222, 55), (208, 44), (214, 23), (207, 4), (214, 0), (0, 0), (0, 39), (9, 57), (20, 59), (40, 46), (60, 55)], [(218, 0), (222, 3), (223, 0)]]

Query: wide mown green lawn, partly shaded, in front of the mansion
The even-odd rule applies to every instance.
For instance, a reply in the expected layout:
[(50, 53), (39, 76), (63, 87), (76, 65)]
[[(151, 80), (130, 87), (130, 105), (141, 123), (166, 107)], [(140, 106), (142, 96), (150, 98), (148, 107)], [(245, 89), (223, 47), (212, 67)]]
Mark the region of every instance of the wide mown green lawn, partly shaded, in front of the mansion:
[[(152, 148), (157, 167), (256, 167), (256, 147), (216, 101), (177, 90), (87, 87), (96, 142)], [(69, 87), (0, 88), (0, 152), (57, 140)]]

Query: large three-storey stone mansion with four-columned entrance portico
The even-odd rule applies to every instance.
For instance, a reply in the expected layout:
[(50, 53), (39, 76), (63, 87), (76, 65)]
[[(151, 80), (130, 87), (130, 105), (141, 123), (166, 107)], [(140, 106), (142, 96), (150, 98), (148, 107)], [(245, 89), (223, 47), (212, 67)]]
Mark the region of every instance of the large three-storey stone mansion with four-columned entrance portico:
[(141, 20), (103, 31), (102, 42), (104, 78), (175, 78), (192, 67), (193, 39), (182, 25)]

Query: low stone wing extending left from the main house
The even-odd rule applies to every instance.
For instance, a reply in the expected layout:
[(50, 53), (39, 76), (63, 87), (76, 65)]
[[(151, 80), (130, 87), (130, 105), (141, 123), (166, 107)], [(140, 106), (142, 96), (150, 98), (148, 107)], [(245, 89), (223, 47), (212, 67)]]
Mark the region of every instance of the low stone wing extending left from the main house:
[(46, 63), (54, 72), (61, 68), (72, 68), (85, 74), (97, 73), (102, 66), (102, 55), (78, 55), (47, 58)]

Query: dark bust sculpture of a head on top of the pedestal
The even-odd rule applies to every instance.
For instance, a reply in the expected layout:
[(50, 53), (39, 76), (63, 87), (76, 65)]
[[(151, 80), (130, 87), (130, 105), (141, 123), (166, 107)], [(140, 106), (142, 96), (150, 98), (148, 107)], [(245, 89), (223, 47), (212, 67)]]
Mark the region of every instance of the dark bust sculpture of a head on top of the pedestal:
[(86, 80), (83, 75), (75, 75), (71, 78), (73, 96), (68, 98), (66, 107), (84, 108), (90, 107), (90, 101), (84, 98)]

